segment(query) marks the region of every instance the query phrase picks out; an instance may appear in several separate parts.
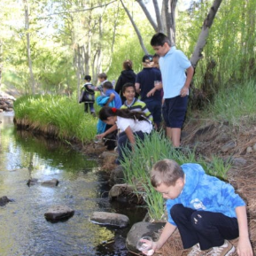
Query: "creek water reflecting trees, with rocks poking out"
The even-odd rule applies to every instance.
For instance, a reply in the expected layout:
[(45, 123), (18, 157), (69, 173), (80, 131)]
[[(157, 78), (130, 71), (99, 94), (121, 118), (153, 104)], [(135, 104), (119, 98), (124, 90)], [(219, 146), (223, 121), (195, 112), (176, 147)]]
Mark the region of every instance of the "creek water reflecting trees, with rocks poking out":
[[(132, 255), (125, 247), (131, 225), (144, 210), (109, 202), (106, 176), (96, 159), (67, 146), (16, 131), (13, 113), (0, 113), (0, 197), (12, 198), (0, 206), (1, 256)], [(36, 178), (39, 184), (27, 186)], [(56, 188), (40, 182), (57, 178)], [(68, 221), (51, 223), (43, 214), (50, 206), (75, 210)], [(131, 225), (112, 229), (93, 224), (95, 211), (124, 213)]]

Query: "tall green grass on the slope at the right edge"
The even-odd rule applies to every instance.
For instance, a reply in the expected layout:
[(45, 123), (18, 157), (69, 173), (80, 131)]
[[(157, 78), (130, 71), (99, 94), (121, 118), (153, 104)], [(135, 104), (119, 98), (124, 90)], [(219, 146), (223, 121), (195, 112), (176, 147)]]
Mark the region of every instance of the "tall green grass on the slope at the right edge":
[(216, 120), (228, 120), (234, 126), (239, 126), (243, 120), (256, 120), (255, 95), (256, 81), (253, 80), (221, 89), (204, 115), (211, 115)]

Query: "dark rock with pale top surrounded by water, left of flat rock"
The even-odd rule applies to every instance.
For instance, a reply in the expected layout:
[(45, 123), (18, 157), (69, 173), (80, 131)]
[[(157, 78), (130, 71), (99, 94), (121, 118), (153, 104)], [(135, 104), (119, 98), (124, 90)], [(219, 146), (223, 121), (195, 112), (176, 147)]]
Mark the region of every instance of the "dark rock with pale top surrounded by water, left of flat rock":
[(48, 211), (44, 213), (47, 221), (65, 221), (74, 215), (74, 210), (68, 206), (50, 206)]

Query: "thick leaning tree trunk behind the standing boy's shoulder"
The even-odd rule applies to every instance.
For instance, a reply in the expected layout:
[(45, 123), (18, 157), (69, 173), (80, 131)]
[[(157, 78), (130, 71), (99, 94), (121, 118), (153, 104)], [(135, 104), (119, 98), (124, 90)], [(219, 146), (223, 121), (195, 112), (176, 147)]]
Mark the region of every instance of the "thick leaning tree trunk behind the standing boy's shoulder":
[(198, 36), (198, 43), (196, 44), (192, 57), (190, 58), (190, 62), (194, 68), (197, 66), (199, 59), (203, 58), (202, 51), (206, 45), (209, 29), (213, 25), (213, 19), (218, 12), (221, 2), (222, 0), (214, 0), (213, 6), (211, 7), (210, 12), (204, 21), (201, 33)]

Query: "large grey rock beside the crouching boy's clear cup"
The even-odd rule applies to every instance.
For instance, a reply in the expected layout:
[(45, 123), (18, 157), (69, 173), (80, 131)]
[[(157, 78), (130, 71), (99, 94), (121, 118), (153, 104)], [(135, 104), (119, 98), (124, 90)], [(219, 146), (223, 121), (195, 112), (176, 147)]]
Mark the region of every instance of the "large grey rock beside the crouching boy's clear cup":
[(165, 225), (165, 222), (152, 223), (145, 221), (137, 222), (136, 224), (134, 224), (129, 230), (126, 240), (128, 250), (131, 252), (138, 252), (138, 250), (136, 249), (136, 244), (141, 237), (151, 237), (153, 241), (156, 241), (156, 233)]

